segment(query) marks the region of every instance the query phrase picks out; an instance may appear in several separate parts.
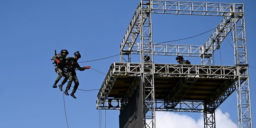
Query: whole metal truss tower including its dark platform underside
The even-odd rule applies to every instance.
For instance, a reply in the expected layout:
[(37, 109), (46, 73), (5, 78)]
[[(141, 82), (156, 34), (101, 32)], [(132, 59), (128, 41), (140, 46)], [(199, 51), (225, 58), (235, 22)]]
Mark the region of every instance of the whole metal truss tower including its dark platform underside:
[[(223, 19), (202, 46), (153, 44), (153, 13)], [(238, 128), (252, 128), (245, 28), (244, 4), (141, 0), (120, 45), (120, 62), (110, 66), (99, 91), (97, 109), (122, 111), (140, 88), (144, 128), (155, 128), (155, 110), (203, 112), (204, 128), (216, 128), (215, 110), (236, 91)], [(212, 65), (231, 30), (234, 66)], [(141, 63), (132, 63), (131, 54), (139, 54)], [(201, 57), (201, 65), (155, 64), (154, 55)]]

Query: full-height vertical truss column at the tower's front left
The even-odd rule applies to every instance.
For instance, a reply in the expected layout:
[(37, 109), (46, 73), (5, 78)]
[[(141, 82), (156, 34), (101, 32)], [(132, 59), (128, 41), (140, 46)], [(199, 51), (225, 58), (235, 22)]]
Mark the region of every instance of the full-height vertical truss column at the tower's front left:
[[(152, 0), (141, 0), (140, 46), (143, 84), (144, 128), (155, 128), (155, 90), (153, 73)], [(146, 57), (144, 57), (146, 55)], [(147, 61), (150, 57), (150, 62)]]

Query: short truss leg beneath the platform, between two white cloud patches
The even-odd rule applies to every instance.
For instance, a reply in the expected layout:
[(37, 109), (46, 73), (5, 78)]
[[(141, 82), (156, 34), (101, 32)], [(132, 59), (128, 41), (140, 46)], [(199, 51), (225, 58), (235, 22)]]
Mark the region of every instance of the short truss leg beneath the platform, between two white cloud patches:
[(204, 111), (203, 119), (204, 119), (204, 128), (216, 128), (215, 111), (213, 111), (213, 112), (209, 112), (207, 110)]

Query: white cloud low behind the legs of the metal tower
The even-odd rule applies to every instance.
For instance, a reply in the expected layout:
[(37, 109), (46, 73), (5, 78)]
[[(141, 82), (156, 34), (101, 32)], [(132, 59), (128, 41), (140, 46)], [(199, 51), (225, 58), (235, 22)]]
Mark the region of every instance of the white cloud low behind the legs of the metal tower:
[[(225, 115), (226, 114), (226, 115)], [(216, 128), (238, 128), (229, 117), (229, 113), (215, 111)], [(198, 120), (185, 114), (156, 111), (156, 128), (204, 128), (203, 114)]]

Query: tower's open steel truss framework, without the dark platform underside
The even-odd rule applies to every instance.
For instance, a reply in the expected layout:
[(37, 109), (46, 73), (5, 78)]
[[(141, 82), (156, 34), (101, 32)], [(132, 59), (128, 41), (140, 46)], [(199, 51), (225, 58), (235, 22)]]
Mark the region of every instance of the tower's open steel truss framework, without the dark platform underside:
[[(223, 19), (213, 30), (210, 37), (202, 46), (193, 45), (169, 45), (153, 44), (152, 34), (152, 14), (182, 14), (182, 15), (200, 15), (200, 16), (220, 16)], [(120, 45), (120, 62), (124, 55), (128, 55), (128, 63), (114, 63), (102, 84), (98, 94), (98, 109), (120, 109), (121, 104), (127, 102), (128, 96), (132, 91), (127, 92), (125, 102), (121, 99), (109, 99), (113, 83), (118, 75), (139, 76), (143, 83), (144, 91), (144, 127), (155, 128), (155, 110), (163, 111), (190, 111), (204, 112), (205, 128), (215, 128), (214, 110), (226, 100), (233, 92), (237, 91), (238, 103), (238, 128), (252, 128), (248, 61), (247, 61), (247, 40), (244, 5), (237, 3), (213, 3), (213, 2), (187, 2), (187, 1), (169, 1), (169, 0), (141, 0), (134, 16), (128, 26), (125, 36)], [(206, 65), (212, 65), (212, 54), (219, 49), (222, 41), (227, 37), (230, 31), (233, 31), (233, 45), (235, 67), (220, 66), (221, 68), (231, 68), (229, 74), (214, 74), (209, 71), (211, 68)], [(137, 37), (140, 43), (136, 43)], [(131, 63), (131, 54), (139, 54), (141, 63)], [(144, 56), (149, 56), (151, 61), (146, 62)], [(183, 55), (201, 57), (201, 64), (185, 67), (183, 65), (172, 64), (154, 64), (154, 55)], [(206, 68), (208, 67), (208, 68)], [(219, 67), (219, 66), (217, 66)], [(161, 69), (159, 69), (161, 68)], [(175, 72), (169, 72), (170, 68)], [(182, 71), (180, 69), (185, 69)], [(207, 73), (200, 74), (198, 71), (203, 69)], [(236, 71), (233, 71), (236, 69)], [(163, 70), (165, 69), (165, 70)], [(165, 71), (165, 72), (163, 72)], [(197, 74), (198, 73), (198, 74)], [(187, 75), (184, 75), (187, 74)], [(234, 76), (236, 74), (236, 76)], [(220, 77), (229, 79), (236, 77), (235, 81), (226, 81), (223, 83), (208, 101), (176, 101), (172, 103), (172, 96), (179, 95), (177, 92), (170, 92), (170, 97), (165, 100), (158, 100), (154, 97), (154, 77), (184, 77), (184, 81), (189, 81), (189, 77)], [(184, 82), (183, 83), (186, 83)], [(230, 86), (230, 83), (234, 83)], [(186, 83), (187, 84), (187, 83)], [(192, 85), (192, 84), (191, 84)], [(178, 84), (177, 86), (185, 86)], [(131, 89), (132, 90), (132, 89)], [(223, 93), (223, 90), (226, 90)], [(181, 97), (182, 98), (182, 97)], [(114, 104), (115, 105), (112, 105)], [(203, 106), (200, 108), (199, 106)]]

